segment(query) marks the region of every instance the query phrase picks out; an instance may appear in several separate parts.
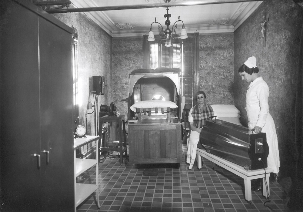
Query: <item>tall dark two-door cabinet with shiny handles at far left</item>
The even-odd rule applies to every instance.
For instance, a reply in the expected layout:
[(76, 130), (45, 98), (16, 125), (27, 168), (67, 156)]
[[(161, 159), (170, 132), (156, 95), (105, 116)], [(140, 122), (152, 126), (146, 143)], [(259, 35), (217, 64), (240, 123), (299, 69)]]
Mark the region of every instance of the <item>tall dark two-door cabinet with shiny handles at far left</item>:
[(1, 210), (74, 211), (72, 29), (2, 1)]

